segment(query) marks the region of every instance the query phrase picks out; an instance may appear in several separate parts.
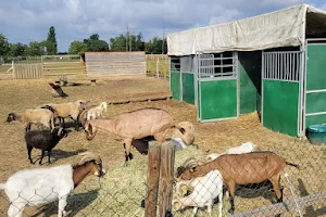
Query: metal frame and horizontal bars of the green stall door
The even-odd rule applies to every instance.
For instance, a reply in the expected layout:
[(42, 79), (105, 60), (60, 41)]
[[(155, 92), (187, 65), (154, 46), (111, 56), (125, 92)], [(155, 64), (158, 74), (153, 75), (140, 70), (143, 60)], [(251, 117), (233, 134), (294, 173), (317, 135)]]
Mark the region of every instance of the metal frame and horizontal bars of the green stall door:
[[(199, 106), (197, 108), (197, 119), (200, 123), (209, 123), (209, 122), (216, 122), (216, 120), (227, 120), (227, 119), (235, 119), (239, 117), (240, 114), (240, 81), (239, 81), (239, 72), (238, 72), (238, 52), (234, 51), (231, 58), (223, 58), (223, 54), (221, 58), (206, 58), (204, 60), (211, 60), (213, 61), (213, 65), (202, 65), (201, 62), (201, 55), (203, 54), (209, 54), (209, 55), (213, 55), (215, 53), (222, 53), (222, 52), (216, 52), (216, 51), (197, 51), (196, 52), (196, 60), (195, 60), (195, 104), (197, 106)], [(214, 65), (214, 60), (233, 60), (233, 64), (227, 64), (227, 65), (223, 65), (223, 62), (221, 65)], [(214, 68), (216, 67), (233, 67), (233, 72), (230, 73), (214, 73)], [(204, 72), (202, 73), (201, 69), (205, 69), (205, 68), (213, 68), (213, 72)], [(210, 77), (202, 77), (202, 75), (204, 76), (210, 76)], [(214, 76), (221, 76), (221, 77), (214, 77)], [(214, 118), (214, 119), (202, 119), (202, 103), (199, 102), (199, 99), (201, 98), (201, 82), (205, 82), (205, 81), (212, 81), (212, 80), (236, 80), (237, 82), (237, 116), (235, 117), (226, 117), (226, 118)]]

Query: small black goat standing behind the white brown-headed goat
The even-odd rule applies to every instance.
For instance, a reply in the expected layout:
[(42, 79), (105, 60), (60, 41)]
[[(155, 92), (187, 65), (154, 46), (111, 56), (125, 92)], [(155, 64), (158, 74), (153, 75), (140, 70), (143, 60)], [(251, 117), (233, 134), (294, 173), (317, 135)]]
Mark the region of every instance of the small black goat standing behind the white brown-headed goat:
[(41, 158), (39, 164), (42, 164), (45, 152), (48, 152), (48, 163), (51, 164), (50, 156), (52, 149), (60, 142), (60, 140), (67, 136), (66, 130), (63, 128), (54, 128), (52, 130), (34, 130), (25, 133), (25, 141), (27, 146), (28, 159), (30, 164), (35, 164), (32, 161), (32, 150), (40, 149)]

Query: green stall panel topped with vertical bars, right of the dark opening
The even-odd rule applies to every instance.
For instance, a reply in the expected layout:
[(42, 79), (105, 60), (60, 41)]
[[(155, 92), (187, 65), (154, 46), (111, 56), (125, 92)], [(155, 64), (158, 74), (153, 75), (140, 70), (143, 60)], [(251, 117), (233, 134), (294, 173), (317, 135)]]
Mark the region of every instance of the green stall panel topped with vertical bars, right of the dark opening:
[(300, 135), (302, 52), (262, 53), (262, 125)]

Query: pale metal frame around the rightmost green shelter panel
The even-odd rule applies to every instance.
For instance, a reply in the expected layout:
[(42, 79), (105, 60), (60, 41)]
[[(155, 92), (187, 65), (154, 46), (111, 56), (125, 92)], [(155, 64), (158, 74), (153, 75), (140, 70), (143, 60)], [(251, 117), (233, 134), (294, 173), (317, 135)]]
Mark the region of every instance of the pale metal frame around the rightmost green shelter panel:
[[(315, 42), (315, 41), (325, 41), (325, 42), (323, 43), (323, 42)], [(310, 94), (310, 93), (326, 92), (326, 89), (306, 90), (308, 44), (310, 44), (310, 46), (326, 46), (326, 38), (305, 39), (305, 41), (304, 41), (303, 50), (304, 50), (304, 53), (305, 53), (305, 55), (304, 55), (305, 61), (304, 61), (304, 69), (303, 69), (304, 80), (303, 80), (303, 91), (302, 91), (302, 98), (303, 98), (303, 102), (302, 102), (302, 126), (301, 126), (302, 129), (301, 129), (301, 133), (300, 133), (302, 137), (304, 137), (304, 131), (305, 131), (305, 128), (306, 128), (305, 118), (308, 116), (325, 115), (326, 114), (326, 112), (306, 113), (306, 95)]]

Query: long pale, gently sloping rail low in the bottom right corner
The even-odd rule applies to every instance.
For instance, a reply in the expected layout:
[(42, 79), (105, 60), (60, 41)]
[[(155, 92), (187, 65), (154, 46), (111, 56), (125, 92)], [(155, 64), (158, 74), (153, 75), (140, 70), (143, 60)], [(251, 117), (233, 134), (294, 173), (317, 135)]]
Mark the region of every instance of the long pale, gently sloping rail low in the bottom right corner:
[[(297, 203), (300, 207), (306, 207), (314, 204), (323, 204), (326, 202), (326, 192), (316, 193), (310, 196), (303, 196), (297, 199)], [(231, 215), (231, 217), (251, 217), (251, 216), (274, 216), (277, 214), (284, 214), (290, 210), (296, 210), (294, 200), (289, 200), (283, 203), (273, 204), (269, 206), (263, 206), (246, 213)]]

